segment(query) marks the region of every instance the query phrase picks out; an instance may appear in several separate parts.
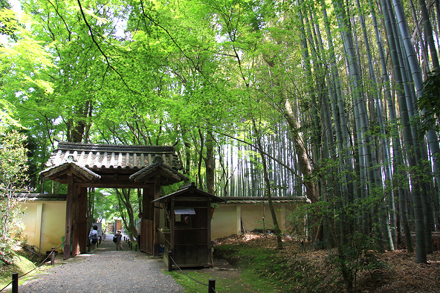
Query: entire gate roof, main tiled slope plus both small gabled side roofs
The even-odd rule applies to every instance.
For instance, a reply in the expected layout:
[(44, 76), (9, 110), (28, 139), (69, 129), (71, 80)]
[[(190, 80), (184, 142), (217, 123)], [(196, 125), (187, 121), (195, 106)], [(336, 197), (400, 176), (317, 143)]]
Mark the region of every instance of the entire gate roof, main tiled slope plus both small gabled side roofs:
[[(59, 142), (41, 174), (66, 183), (69, 172), (82, 182), (126, 180), (141, 183), (160, 174), (162, 185), (180, 182), (185, 176), (174, 146), (130, 146)], [(118, 175), (116, 175), (118, 174)], [(120, 176), (123, 177), (120, 177)], [(119, 177), (119, 178), (118, 178)]]

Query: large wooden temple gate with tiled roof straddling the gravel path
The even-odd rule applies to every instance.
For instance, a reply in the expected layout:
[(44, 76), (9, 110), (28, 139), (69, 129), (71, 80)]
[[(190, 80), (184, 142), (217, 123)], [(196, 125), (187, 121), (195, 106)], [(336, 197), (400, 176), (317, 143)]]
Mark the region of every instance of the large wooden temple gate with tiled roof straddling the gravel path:
[(64, 259), (86, 252), (87, 188), (142, 188), (140, 249), (159, 254), (159, 209), (152, 201), (161, 186), (186, 178), (178, 172), (182, 164), (174, 146), (59, 142), (46, 166), (46, 179), (67, 184)]

